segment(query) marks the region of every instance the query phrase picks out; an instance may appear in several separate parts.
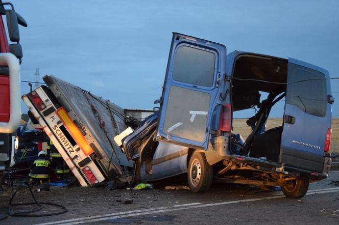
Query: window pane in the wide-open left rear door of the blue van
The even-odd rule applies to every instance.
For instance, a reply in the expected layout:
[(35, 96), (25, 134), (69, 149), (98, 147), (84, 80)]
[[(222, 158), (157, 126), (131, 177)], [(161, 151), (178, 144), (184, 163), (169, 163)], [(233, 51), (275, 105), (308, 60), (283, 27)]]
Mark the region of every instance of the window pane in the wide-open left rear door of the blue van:
[(181, 46), (175, 55), (172, 78), (192, 85), (211, 87), (215, 55), (212, 52)]

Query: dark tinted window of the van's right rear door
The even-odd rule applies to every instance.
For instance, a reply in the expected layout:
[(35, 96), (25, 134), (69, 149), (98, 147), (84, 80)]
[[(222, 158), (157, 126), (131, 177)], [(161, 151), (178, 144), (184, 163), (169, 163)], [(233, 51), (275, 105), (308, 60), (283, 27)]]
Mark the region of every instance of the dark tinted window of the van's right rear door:
[(287, 85), (286, 103), (292, 104), (305, 113), (324, 117), (326, 115), (326, 80), (325, 75), (317, 70), (288, 64), (288, 82), (308, 80)]

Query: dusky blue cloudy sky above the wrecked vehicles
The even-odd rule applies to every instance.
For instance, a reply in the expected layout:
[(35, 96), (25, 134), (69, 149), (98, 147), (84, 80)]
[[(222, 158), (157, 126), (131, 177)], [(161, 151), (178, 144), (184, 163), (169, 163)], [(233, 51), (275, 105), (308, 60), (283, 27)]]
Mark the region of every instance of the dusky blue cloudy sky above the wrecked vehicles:
[[(10, 2), (28, 22), (20, 26), (21, 80), (34, 81), (39, 68), (41, 82), (54, 75), (123, 108), (156, 106), (172, 32), (224, 44), (228, 53), (292, 57), (339, 77), (337, 0)], [(339, 80), (331, 86), (339, 92)], [(28, 91), (22, 82), (21, 94)], [(277, 103), (271, 117), (281, 117), (283, 107)], [(332, 115), (339, 116), (339, 104)]]

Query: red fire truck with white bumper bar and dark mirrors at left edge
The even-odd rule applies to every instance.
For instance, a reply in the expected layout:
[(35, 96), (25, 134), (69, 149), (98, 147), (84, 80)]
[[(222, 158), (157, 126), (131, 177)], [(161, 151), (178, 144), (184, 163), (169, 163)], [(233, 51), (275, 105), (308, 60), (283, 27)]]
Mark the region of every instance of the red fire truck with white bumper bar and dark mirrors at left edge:
[(19, 24), (27, 26), (13, 4), (0, 1), (0, 181), (5, 168), (14, 164), (15, 130), (21, 119)]

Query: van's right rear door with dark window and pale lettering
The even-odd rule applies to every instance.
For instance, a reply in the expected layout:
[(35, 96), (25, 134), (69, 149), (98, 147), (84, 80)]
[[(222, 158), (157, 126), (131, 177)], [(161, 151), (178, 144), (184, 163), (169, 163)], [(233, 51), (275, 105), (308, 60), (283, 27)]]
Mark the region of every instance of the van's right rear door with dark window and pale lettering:
[(280, 151), (280, 161), (287, 166), (323, 172), (333, 103), (327, 78), (325, 69), (288, 58)]

